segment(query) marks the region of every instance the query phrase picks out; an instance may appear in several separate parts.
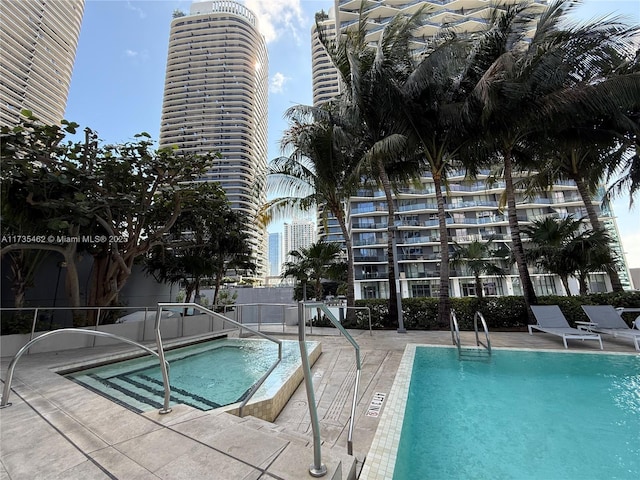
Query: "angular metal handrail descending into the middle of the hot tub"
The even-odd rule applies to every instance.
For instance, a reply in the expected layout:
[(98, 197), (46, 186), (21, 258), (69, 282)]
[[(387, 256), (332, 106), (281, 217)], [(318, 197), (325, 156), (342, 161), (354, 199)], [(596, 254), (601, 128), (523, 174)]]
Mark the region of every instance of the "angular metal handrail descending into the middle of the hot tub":
[[(280, 361), (282, 360), (282, 341), (278, 340), (277, 338), (274, 338), (270, 335), (264, 334), (258, 330), (255, 330), (251, 327), (247, 327), (246, 325), (243, 325), (239, 322), (236, 322), (235, 320), (231, 320), (230, 318), (225, 317), (224, 315), (219, 314), (218, 312), (214, 312), (213, 310), (208, 309), (207, 307), (203, 307), (202, 305), (199, 305), (197, 303), (158, 303), (158, 312), (156, 315), (156, 325), (155, 325), (155, 332), (156, 332), (156, 344), (157, 344), (157, 350), (158, 350), (158, 355), (160, 356), (160, 360), (161, 362), (164, 362), (164, 348), (162, 346), (162, 335), (160, 334), (160, 324), (161, 324), (161, 320), (162, 320), (162, 309), (163, 308), (193, 308), (194, 310), (198, 310), (202, 313), (206, 313), (207, 315), (211, 315), (213, 317), (218, 317), (220, 319), (222, 319), (224, 322), (229, 322), (232, 325), (236, 325), (237, 327), (243, 328), (245, 330), (249, 330), (250, 332), (252, 332), (255, 335), (258, 335), (259, 337), (262, 337), (266, 340), (270, 340), (274, 343), (276, 343), (278, 345), (278, 359), (275, 361), (275, 363), (271, 366), (271, 368), (269, 368), (269, 370), (267, 370), (267, 373), (265, 373), (255, 384), (255, 388), (253, 388), (250, 392), (249, 395), (247, 395), (245, 397), (245, 399), (242, 401), (242, 403), (240, 403), (240, 406), (238, 407), (238, 414), (239, 416), (242, 416), (242, 410), (244, 409), (245, 405), (247, 404), (247, 402), (251, 399), (251, 397), (256, 393), (256, 391), (258, 390), (258, 388), (260, 388), (260, 386), (264, 383), (264, 381), (267, 379), (267, 377), (271, 374), (271, 372), (273, 372), (273, 370), (278, 366), (278, 364), (280, 363)], [(162, 382), (164, 384), (164, 402), (162, 405), (162, 409), (160, 410), (161, 414), (164, 413), (169, 413), (171, 411), (171, 408), (169, 407), (169, 399), (170, 399), (170, 395), (171, 395), (171, 386), (169, 385), (169, 376), (168, 373), (164, 371), (162, 371)]]

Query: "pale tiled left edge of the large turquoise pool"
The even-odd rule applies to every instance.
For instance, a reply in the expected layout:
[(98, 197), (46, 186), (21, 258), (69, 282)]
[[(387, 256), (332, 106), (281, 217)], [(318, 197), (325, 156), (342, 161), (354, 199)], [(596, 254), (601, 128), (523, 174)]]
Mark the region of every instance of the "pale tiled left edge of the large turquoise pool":
[(388, 403), (384, 407), (371, 448), (369, 448), (360, 473), (360, 480), (390, 480), (393, 478), (415, 355), (416, 345), (408, 344), (389, 392)]

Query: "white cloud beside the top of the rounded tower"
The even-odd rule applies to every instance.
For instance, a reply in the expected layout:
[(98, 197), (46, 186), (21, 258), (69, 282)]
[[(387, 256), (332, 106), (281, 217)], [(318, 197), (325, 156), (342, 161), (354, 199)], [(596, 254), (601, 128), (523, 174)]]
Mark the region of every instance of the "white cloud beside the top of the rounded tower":
[(290, 36), (296, 43), (306, 38), (309, 22), (304, 16), (302, 0), (244, 0), (245, 6), (258, 17), (260, 31), (267, 43)]

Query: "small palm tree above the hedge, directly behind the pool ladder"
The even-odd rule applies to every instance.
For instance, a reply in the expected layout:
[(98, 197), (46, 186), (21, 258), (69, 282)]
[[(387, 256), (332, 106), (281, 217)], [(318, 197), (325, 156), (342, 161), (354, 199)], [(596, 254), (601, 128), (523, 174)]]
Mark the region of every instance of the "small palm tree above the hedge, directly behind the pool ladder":
[(492, 248), (493, 240), (483, 242), (472, 240), (469, 245), (460, 245), (454, 242), (454, 251), (451, 255), (451, 266), (466, 266), (473, 273), (476, 284), (476, 295), (483, 297), (482, 281), (480, 275), (494, 275), (504, 277), (506, 271), (496, 265), (498, 258), (505, 258), (506, 254), (502, 250)]

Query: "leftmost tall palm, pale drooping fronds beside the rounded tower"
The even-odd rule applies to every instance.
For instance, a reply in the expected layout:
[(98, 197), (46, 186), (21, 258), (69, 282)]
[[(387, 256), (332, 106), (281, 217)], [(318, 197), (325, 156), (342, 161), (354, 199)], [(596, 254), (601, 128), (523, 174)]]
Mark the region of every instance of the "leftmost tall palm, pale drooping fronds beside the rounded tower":
[[(355, 305), (353, 247), (346, 223), (345, 202), (355, 192), (360, 178), (355, 174), (354, 149), (357, 142), (335, 115), (331, 104), (323, 107), (297, 105), (285, 116), (291, 126), (282, 138), (288, 156), (272, 160), (267, 171), (269, 192), (276, 198), (262, 208), (268, 222), (322, 206), (325, 221), (329, 214), (340, 226), (347, 256), (347, 307)], [(347, 309), (347, 316), (353, 315)]]

